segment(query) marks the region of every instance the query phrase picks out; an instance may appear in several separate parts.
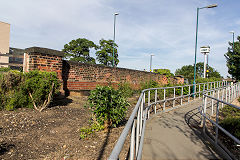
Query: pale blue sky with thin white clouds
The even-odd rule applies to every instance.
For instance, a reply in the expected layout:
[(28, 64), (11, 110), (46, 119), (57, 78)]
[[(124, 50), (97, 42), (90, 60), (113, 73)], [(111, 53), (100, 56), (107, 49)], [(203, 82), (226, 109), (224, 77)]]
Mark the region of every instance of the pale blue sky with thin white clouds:
[[(200, 47), (209, 45), (209, 65), (226, 77), (224, 54), (240, 35), (239, 0), (0, 0), (0, 21), (10, 28), (10, 46), (62, 50), (73, 39), (86, 38), (99, 44), (116, 40), (121, 68), (170, 69), (194, 64), (197, 7), (199, 11), (197, 62)], [(95, 51), (91, 51), (95, 57)]]

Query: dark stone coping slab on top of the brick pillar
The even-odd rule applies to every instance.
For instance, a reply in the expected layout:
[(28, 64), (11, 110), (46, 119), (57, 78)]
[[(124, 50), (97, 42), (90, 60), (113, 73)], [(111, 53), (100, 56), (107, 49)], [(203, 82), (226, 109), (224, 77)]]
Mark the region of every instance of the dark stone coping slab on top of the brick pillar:
[(41, 53), (41, 54), (48, 54), (48, 55), (54, 55), (54, 56), (59, 56), (63, 57), (64, 52), (54, 50), (54, 49), (48, 49), (48, 48), (41, 48), (41, 47), (30, 47), (26, 48), (25, 52), (27, 53)]

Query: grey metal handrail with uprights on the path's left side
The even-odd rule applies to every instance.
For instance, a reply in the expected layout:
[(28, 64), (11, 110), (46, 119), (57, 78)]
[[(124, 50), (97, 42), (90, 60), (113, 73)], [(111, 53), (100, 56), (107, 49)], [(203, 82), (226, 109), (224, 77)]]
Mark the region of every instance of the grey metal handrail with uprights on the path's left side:
[[(227, 81), (217, 81), (217, 82), (207, 82), (207, 83), (199, 83), (199, 84), (190, 84), (190, 85), (183, 85), (183, 86), (172, 86), (172, 87), (160, 87), (160, 88), (149, 88), (145, 89), (141, 92), (140, 97), (138, 99), (137, 104), (135, 105), (134, 110), (132, 111), (132, 114), (130, 118), (127, 121), (127, 124), (125, 128), (123, 129), (117, 143), (115, 144), (110, 156), (109, 160), (117, 160), (119, 159), (120, 152), (122, 151), (123, 145), (125, 143), (125, 140), (127, 138), (127, 135), (129, 134), (129, 131), (131, 129), (131, 138), (130, 138), (130, 154), (129, 159), (137, 159), (140, 160), (142, 157), (142, 147), (143, 147), (143, 140), (144, 140), (144, 133), (145, 133), (145, 126), (146, 121), (150, 117), (150, 109), (154, 106), (154, 113), (157, 112), (166, 112), (175, 108), (178, 108), (178, 106), (175, 106), (175, 101), (177, 99), (181, 99), (181, 105), (183, 104), (183, 98), (188, 97), (188, 102), (190, 102), (190, 97), (193, 96), (194, 99), (196, 99), (196, 96), (198, 95), (199, 98), (201, 98), (202, 94), (206, 91), (220, 88), (223, 86), (228, 85)], [(191, 87), (195, 86), (194, 92), (191, 92)], [(184, 95), (183, 89), (185, 87), (188, 87), (188, 94)], [(201, 87), (203, 87), (203, 90), (201, 91)], [(176, 97), (176, 89), (181, 88), (181, 95)], [(198, 90), (197, 90), (198, 88)], [(173, 89), (173, 97), (166, 97), (166, 91), (169, 89)], [(158, 91), (163, 90), (163, 99), (160, 100), (158, 98)], [(154, 92), (153, 92), (154, 91)], [(151, 93), (153, 92), (153, 93)], [(154, 101), (151, 102), (151, 95), (154, 94)], [(148, 99), (148, 102), (146, 104), (146, 96)], [(165, 109), (166, 102), (167, 101), (173, 101), (173, 106), (170, 109)], [(162, 111), (158, 111), (156, 108), (157, 104), (163, 103), (163, 109)]]

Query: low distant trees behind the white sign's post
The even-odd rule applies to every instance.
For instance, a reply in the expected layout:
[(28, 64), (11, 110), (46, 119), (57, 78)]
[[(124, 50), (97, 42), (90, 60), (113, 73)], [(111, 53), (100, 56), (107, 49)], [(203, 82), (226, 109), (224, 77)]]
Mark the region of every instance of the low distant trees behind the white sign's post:
[[(207, 66), (207, 78), (221, 78), (220, 73), (211, 66)], [(201, 78), (204, 72), (204, 63), (199, 62), (196, 64), (196, 78)], [(185, 65), (175, 71), (175, 75), (182, 75), (188, 80), (194, 79), (194, 65)]]

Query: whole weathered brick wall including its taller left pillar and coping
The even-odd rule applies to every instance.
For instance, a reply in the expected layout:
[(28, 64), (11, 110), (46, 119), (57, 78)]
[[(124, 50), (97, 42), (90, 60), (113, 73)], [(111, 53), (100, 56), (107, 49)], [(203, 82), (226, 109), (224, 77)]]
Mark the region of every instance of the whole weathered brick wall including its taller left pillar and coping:
[(97, 85), (117, 86), (128, 82), (138, 89), (142, 82), (149, 80), (167, 84), (164, 75), (126, 68), (112, 68), (103, 65), (83, 64), (62, 60), (64, 53), (47, 48), (31, 47), (25, 49), (24, 71), (43, 70), (57, 72), (62, 81), (62, 89), (68, 95), (71, 91), (89, 91)]

